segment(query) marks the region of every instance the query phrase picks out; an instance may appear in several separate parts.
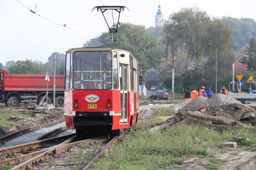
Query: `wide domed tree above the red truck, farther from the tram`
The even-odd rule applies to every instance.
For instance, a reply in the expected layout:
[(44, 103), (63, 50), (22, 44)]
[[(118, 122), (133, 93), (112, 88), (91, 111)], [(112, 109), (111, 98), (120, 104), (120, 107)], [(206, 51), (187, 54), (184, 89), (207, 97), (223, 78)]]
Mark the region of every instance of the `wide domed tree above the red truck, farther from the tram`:
[(25, 61), (18, 60), (16, 64), (10, 66), (8, 74), (44, 75), (46, 71), (37, 62), (26, 58)]

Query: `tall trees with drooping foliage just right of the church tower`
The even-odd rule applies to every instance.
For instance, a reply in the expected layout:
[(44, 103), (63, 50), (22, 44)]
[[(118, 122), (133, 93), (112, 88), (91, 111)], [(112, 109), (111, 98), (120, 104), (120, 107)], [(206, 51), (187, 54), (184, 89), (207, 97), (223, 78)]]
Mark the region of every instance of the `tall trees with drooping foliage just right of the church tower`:
[[(175, 24), (173, 21), (175, 20)], [(174, 28), (174, 29), (173, 29)], [(172, 13), (163, 26), (166, 34), (166, 53), (173, 52), (173, 39), (175, 39), (175, 53), (184, 50), (184, 43), (189, 47), (190, 62), (195, 62), (195, 67), (190, 76), (197, 80), (196, 84), (205, 84), (205, 63), (208, 62), (208, 77), (215, 78), (215, 47), (218, 49), (218, 70), (221, 74), (232, 74), (234, 61), (232, 47), (232, 31), (220, 19), (211, 19), (209, 15), (197, 7), (181, 8), (177, 13)], [(167, 56), (167, 55), (166, 55)], [(176, 55), (175, 55), (176, 56)], [(183, 63), (187, 60), (182, 59)], [(221, 65), (221, 66), (220, 66)], [(186, 72), (187, 73), (187, 72)], [(220, 75), (218, 74), (220, 77)], [(186, 78), (187, 76), (183, 76)], [(215, 79), (209, 79), (209, 84), (215, 84)], [(186, 80), (184, 80), (186, 81)], [(184, 84), (183, 84), (184, 85)], [(220, 85), (221, 86), (221, 85)]]

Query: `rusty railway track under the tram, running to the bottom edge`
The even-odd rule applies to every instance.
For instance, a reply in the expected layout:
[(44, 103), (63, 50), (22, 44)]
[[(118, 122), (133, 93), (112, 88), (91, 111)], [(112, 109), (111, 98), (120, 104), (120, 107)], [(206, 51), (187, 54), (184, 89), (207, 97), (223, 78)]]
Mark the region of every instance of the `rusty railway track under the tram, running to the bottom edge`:
[[(0, 166), (13, 166), (11, 170), (26, 169), (32, 167), (36, 169), (87, 169), (97, 158), (113, 147), (127, 133), (127, 129), (120, 135), (115, 136), (110, 142), (106, 142), (106, 137), (96, 137), (76, 141), (77, 136), (54, 145), (56, 139), (45, 139), (17, 145), (8, 150), (10, 153), (17, 152), (20, 156), (3, 160)], [(6, 152), (1, 149), (0, 153)], [(78, 158), (81, 160), (78, 160)], [(16, 165), (18, 164), (18, 165)], [(16, 166), (14, 166), (16, 165)]]

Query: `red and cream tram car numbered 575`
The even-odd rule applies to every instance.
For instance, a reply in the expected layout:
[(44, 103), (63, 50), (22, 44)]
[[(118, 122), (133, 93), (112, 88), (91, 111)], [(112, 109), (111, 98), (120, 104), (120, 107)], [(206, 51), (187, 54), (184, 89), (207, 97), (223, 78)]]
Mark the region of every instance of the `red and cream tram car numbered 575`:
[(69, 129), (82, 134), (129, 128), (139, 115), (138, 61), (115, 48), (66, 51), (64, 116)]

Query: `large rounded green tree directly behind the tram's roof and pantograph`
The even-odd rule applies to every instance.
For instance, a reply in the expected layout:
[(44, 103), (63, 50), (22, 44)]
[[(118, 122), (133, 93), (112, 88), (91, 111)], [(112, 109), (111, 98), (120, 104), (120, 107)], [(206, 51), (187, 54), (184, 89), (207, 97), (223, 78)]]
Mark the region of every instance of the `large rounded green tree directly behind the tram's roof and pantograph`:
[[(111, 47), (112, 34), (103, 32), (99, 37), (102, 45), (98, 47)], [(145, 27), (128, 23), (121, 23), (115, 34), (114, 48), (130, 51), (140, 62), (143, 76), (149, 68), (161, 70), (164, 51), (158, 48), (159, 42), (147, 33)], [(141, 71), (140, 71), (141, 72)]]

